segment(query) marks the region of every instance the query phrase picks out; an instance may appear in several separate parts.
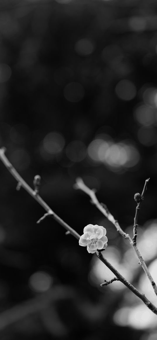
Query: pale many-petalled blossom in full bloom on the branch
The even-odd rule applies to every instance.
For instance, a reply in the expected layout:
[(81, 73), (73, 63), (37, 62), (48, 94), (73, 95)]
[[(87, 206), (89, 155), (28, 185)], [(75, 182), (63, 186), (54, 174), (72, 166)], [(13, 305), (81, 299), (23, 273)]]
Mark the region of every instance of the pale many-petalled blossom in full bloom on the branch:
[(101, 225), (88, 224), (83, 229), (83, 235), (80, 236), (79, 245), (87, 246), (89, 253), (95, 253), (97, 249), (107, 247), (106, 229)]

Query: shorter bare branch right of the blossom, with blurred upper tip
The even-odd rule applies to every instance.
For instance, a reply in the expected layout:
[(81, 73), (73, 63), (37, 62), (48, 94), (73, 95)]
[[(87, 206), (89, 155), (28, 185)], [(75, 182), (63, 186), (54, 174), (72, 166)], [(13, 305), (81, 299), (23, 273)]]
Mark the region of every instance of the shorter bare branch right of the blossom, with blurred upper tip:
[[(147, 182), (149, 181), (146, 180)], [(144, 197), (144, 193), (146, 191), (146, 185), (147, 182), (145, 182), (143, 191), (142, 191), (142, 199)], [(132, 248), (134, 249), (136, 255), (138, 256), (139, 259), (139, 264), (141, 265), (141, 267), (143, 268), (146, 276), (148, 277), (148, 280), (150, 280), (150, 283), (154, 289), (155, 294), (157, 295), (157, 286), (153, 280), (153, 277), (151, 276), (143, 258), (142, 255), (140, 254), (139, 249), (137, 248), (137, 245), (135, 245), (130, 237), (129, 234), (126, 234), (122, 228), (120, 227), (119, 223), (117, 222), (117, 220), (114, 219), (114, 217), (111, 215), (110, 211), (108, 210), (108, 208), (106, 207), (105, 204), (99, 203), (96, 195), (95, 195), (95, 191), (93, 189), (90, 189), (87, 187), (87, 185), (84, 184), (83, 180), (81, 178), (77, 178), (76, 179), (76, 184), (74, 185), (75, 189), (80, 189), (82, 191), (84, 191), (85, 193), (87, 193), (90, 198), (91, 198), (91, 202), (102, 212), (103, 215), (105, 215), (105, 217), (107, 217), (107, 219), (113, 223), (113, 225), (116, 227), (117, 232), (119, 232), (124, 238), (127, 239), (127, 241), (130, 243), (130, 245), (132, 246)]]

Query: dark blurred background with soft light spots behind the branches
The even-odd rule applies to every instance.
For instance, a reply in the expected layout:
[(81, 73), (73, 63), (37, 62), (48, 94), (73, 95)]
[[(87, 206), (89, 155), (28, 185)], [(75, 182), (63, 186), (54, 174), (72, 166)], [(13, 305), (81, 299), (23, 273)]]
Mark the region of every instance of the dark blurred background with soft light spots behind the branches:
[[(138, 239), (156, 259), (156, 1), (1, 0), (0, 145), (30, 186), (41, 175), (42, 198), (79, 234), (106, 227), (105, 256), (142, 287), (132, 250), (73, 185), (82, 177), (132, 233), (151, 177)], [(100, 289), (105, 266), (52, 219), (36, 224), (43, 208), (0, 172), (1, 339), (156, 340), (138, 299), (117, 282)]]

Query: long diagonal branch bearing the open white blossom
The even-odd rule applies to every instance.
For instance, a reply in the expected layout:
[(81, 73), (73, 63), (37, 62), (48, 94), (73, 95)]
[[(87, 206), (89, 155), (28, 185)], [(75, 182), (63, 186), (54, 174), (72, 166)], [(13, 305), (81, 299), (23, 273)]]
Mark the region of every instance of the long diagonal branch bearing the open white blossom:
[[(18, 172), (14, 169), (12, 164), (9, 162), (7, 157), (4, 155), (5, 149), (0, 149), (0, 159), (3, 164), (9, 170), (9, 172), (13, 175), (16, 181), (21, 183), (21, 187), (23, 187), (50, 215), (56, 220), (60, 225), (62, 225), (67, 231), (70, 232), (76, 239), (80, 239), (80, 235), (71, 228), (67, 223), (65, 223), (58, 215), (52, 211), (52, 209), (42, 200), (39, 195), (34, 194), (34, 191), (31, 187), (22, 179), (22, 177), (18, 174)], [(90, 190), (90, 189), (89, 189)], [(135, 295), (137, 295), (145, 305), (152, 310), (154, 314), (157, 315), (157, 308), (144, 296), (141, 294), (134, 286), (132, 286), (101, 254), (101, 251), (97, 251), (96, 256), (112, 271), (113, 274), (127, 287), (129, 288)], [(7, 324), (9, 324), (9, 320), (7, 320)]]

